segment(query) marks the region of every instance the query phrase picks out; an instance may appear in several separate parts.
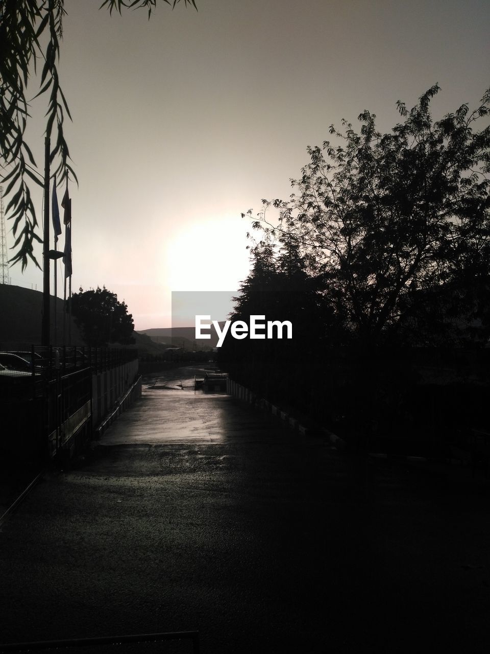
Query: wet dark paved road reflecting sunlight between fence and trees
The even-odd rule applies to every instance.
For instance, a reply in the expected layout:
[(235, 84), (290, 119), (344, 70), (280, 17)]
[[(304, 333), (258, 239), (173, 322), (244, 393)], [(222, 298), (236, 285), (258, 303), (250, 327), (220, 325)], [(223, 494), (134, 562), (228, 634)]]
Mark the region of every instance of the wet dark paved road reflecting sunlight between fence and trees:
[(488, 651), (484, 483), (370, 459), (361, 489), (325, 439), (176, 387), (191, 378), (155, 380), (3, 525), (0, 642), (197, 629), (204, 654)]

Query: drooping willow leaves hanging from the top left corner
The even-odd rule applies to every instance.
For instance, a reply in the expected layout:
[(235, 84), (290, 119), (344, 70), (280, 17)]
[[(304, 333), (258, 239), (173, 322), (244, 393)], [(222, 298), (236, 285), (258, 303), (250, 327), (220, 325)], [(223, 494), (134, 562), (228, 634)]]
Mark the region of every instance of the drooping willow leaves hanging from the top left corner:
[[(180, 0), (163, 0), (172, 9)], [(157, 0), (105, 0), (102, 7), (121, 12), (123, 7), (148, 9), (148, 17)], [(187, 6), (195, 0), (184, 0)], [(63, 38), (64, 0), (1, 0), (0, 1), (0, 184), (7, 199), (5, 214), (12, 220), (16, 241), (10, 263), (22, 264), (24, 271), (29, 260), (39, 264), (33, 254), (33, 241), (42, 242), (37, 235), (39, 224), (29, 192), (29, 184), (42, 186), (42, 174), (29, 145), (25, 130), (33, 99), (49, 94), (46, 111), (46, 136), (50, 137), (50, 165), (57, 182), (76, 180), (69, 148), (63, 132), (65, 114), (71, 113), (59, 84), (57, 61), (59, 43)], [(47, 41), (47, 43), (46, 43)], [(42, 44), (41, 44), (42, 43)], [(31, 75), (37, 73), (42, 61), (39, 91), (27, 95)], [(8, 182), (8, 183), (7, 183)]]

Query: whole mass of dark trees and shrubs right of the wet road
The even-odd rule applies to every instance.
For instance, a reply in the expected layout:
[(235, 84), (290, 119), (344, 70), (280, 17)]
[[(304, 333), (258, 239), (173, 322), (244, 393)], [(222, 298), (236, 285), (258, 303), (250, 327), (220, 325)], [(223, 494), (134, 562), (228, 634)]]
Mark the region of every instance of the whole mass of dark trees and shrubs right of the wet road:
[[(227, 337), (219, 354), (236, 381), (356, 451), (442, 455), (480, 419), (451, 403), (490, 383), (468, 350), (490, 335), (490, 91), (434, 122), (436, 92), (399, 102), (390, 133), (367, 111), (360, 134), (331, 128), (339, 145), (308, 147), (291, 198), (263, 200), (235, 319), (289, 319), (293, 339)], [(441, 361), (444, 349), (461, 357)]]

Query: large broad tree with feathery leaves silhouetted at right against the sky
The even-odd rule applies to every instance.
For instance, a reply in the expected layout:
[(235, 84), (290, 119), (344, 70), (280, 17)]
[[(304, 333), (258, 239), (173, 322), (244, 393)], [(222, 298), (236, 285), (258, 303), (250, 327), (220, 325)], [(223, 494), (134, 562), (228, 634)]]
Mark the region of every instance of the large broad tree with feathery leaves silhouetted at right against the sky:
[[(291, 199), (263, 200), (279, 210), (278, 225), (264, 211), (253, 224), (297, 243), (344, 332), (367, 345), (399, 340), (408, 324), (421, 328), (418, 315), (431, 313), (434, 291), (449, 301), (451, 292), (488, 286), (490, 128), (476, 127), (490, 113), (490, 90), (474, 111), (462, 105), (434, 122), (438, 90), (410, 111), (399, 101), (404, 120), (389, 133), (377, 131), (368, 111), (360, 133), (346, 121), (344, 132), (331, 126), (340, 145), (308, 146), (310, 163), (291, 180)], [(461, 304), (458, 320), (446, 319), (444, 303), (438, 311), (439, 336), (449, 340), (458, 321), (484, 313), (474, 301)]]

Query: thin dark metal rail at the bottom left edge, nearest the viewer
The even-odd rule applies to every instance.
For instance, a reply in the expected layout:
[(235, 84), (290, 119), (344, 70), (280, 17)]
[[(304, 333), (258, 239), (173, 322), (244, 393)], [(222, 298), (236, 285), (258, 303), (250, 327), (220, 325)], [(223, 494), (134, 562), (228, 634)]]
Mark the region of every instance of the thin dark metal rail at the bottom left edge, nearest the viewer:
[(199, 654), (199, 631), (172, 631), (157, 634), (131, 634), (129, 636), (101, 636), (99, 638), (71, 638), (68, 640), (7, 643), (0, 644), (0, 652), (61, 649), (67, 647), (100, 647), (101, 645), (122, 645), (125, 643), (156, 643), (165, 640), (192, 640), (193, 654)]

